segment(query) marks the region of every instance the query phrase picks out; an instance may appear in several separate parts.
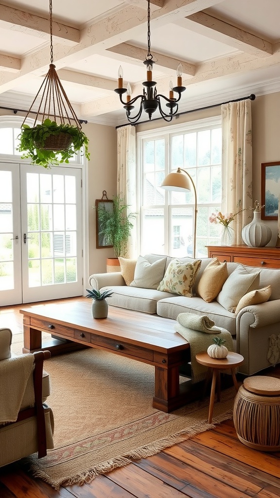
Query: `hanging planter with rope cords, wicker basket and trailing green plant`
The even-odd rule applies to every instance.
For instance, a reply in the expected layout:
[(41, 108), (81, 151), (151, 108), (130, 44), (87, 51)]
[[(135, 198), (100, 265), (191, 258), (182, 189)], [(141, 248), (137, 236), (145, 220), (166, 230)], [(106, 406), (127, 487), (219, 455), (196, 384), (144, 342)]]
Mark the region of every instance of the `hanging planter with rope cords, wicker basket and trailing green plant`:
[[(44, 166), (68, 163), (69, 158), (77, 154), (84, 146), (89, 159), (88, 138), (71, 106), (65, 90), (58, 78), (53, 64), (52, 45), (52, 0), (50, 11), (50, 66), (35, 96), (27, 115), (21, 125), (18, 150), (23, 158), (31, 158), (31, 164)], [(40, 99), (33, 127), (26, 124), (26, 119), (33, 106)], [(41, 123), (38, 123), (38, 117)]]

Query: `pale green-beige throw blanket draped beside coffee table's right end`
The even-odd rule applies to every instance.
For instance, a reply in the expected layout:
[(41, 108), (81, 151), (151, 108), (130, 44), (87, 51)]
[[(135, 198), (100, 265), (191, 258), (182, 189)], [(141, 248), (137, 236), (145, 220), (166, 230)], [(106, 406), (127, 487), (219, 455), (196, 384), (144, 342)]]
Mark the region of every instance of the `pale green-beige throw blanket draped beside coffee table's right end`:
[[(204, 318), (204, 320), (201, 320), (202, 325), (200, 330), (198, 330), (198, 318)], [(182, 323), (192, 323), (197, 328), (196, 330), (194, 330), (190, 327), (182, 325)], [(209, 325), (209, 323), (214, 324), (212, 325), (213, 333), (210, 333), (211, 327), (205, 325)], [(205, 326), (206, 331), (203, 330)], [(213, 320), (210, 320), (207, 316), (198, 317), (198, 315), (195, 315), (193, 313), (180, 313), (174, 325), (174, 330), (178, 332), (178, 334), (180, 334), (190, 344), (191, 375), (192, 381), (194, 383), (203, 380), (206, 377), (207, 373), (207, 367), (204, 367), (204, 365), (200, 365), (199, 363), (197, 363), (195, 355), (197, 355), (198, 353), (202, 353), (203, 351), (207, 351), (207, 348), (211, 346), (211, 344), (213, 344), (213, 339), (217, 336), (217, 334), (219, 334), (219, 337), (225, 339), (225, 342), (223, 343), (224, 346), (226, 346), (229, 351), (234, 351), (233, 339), (230, 332), (228, 332), (226, 329), (219, 329), (218, 327), (215, 327), (215, 323), (213, 322)]]

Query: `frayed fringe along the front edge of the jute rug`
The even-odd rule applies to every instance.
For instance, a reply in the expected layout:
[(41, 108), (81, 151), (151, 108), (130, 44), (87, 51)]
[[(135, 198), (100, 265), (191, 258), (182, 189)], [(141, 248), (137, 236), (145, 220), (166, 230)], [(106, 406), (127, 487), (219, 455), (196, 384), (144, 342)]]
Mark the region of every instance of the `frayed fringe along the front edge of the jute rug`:
[(118, 456), (114, 459), (107, 460), (101, 462), (98, 465), (95, 465), (93, 469), (87, 469), (80, 474), (76, 474), (67, 479), (63, 478), (60, 480), (51, 479), (43, 470), (39, 469), (35, 462), (29, 463), (29, 469), (31, 470), (34, 477), (40, 478), (46, 483), (48, 483), (52, 488), (56, 491), (59, 490), (59, 487), (63, 484), (64, 486), (71, 486), (77, 484), (82, 486), (85, 483), (90, 483), (97, 476), (101, 474), (107, 474), (108, 472), (113, 471), (114, 469), (125, 467), (131, 464), (134, 460), (139, 460), (140, 458), (150, 457), (159, 453), (160, 451), (168, 448), (169, 446), (173, 446), (174, 444), (181, 443), (182, 441), (186, 441), (191, 437), (200, 434), (201, 432), (205, 432), (207, 430), (215, 428), (215, 426), (225, 420), (230, 420), (233, 417), (232, 410), (224, 412), (216, 417), (214, 417), (213, 422), (208, 424), (207, 420), (204, 422), (198, 422), (187, 429), (183, 429), (172, 436), (168, 436), (166, 438), (159, 439), (157, 441), (153, 441), (152, 443), (140, 446), (135, 450), (131, 451), (128, 454)]

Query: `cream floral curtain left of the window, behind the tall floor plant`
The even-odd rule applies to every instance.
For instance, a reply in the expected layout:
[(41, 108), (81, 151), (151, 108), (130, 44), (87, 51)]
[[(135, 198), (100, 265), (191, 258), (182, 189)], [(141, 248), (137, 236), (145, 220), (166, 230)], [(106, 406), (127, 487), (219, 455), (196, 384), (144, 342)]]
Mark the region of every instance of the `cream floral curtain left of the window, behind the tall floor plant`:
[[(118, 134), (118, 184), (117, 193), (129, 212), (137, 212), (136, 201), (136, 129), (128, 124), (117, 129)], [(127, 257), (138, 256), (137, 219), (131, 218), (133, 229), (128, 241)]]

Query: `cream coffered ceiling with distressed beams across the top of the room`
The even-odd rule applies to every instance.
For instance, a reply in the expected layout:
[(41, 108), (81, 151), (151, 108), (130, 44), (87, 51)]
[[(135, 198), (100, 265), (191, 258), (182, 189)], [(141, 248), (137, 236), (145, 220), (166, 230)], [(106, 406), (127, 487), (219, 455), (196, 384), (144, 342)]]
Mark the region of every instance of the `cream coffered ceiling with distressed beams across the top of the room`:
[[(150, 1), (153, 79), (168, 96), (181, 62), (181, 112), (280, 91), (280, 0)], [(0, 2), (0, 107), (28, 110), (50, 64), (49, 2)], [(146, 0), (52, 0), (52, 16), (54, 64), (78, 118), (126, 123), (114, 89), (121, 64), (124, 86), (142, 93)]]

